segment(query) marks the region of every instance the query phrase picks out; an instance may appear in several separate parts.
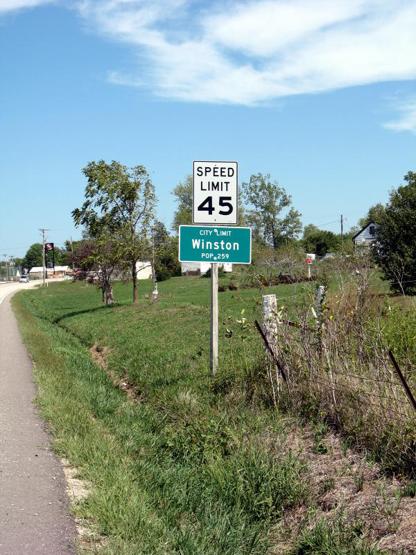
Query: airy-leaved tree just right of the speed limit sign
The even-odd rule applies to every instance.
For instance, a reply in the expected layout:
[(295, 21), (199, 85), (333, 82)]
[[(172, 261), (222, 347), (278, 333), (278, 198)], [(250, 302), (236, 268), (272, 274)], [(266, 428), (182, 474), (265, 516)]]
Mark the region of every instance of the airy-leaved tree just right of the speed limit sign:
[(278, 248), (302, 230), (302, 214), (297, 210), (291, 209), (284, 219), (279, 218), (281, 211), (292, 204), (292, 198), (277, 181), (270, 181), (270, 173), (253, 174), (250, 182), (243, 182), (242, 186), (246, 202), (254, 206), (254, 210), (248, 211), (247, 219), (256, 223), (257, 234), (265, 244)]

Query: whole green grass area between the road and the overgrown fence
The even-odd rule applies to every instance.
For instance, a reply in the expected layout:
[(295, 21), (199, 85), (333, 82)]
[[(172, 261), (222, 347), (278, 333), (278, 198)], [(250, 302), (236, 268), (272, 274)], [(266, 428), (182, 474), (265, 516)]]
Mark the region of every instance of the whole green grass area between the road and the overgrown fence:
[[(12, 300), (54, 448), (92, 484), (73, 510), (104, 538), (97, 552), (266, 554), (282, 541), (284, 511), (315, 503), (307, 461), (281, 441), (293, 422), (268, 398), (261, 340), (237, 322), (242, 311), (250, 324), (259, 317), (261, 293), (219, 293), (211, 379), (209, 287), (173, 278), (150, 300), (139, 282), (133, 305), (131, 287), (115, 284), (105, 307), (93, 285), (62, 282)], [(289, 316), (310, 294), (300, 285), (270, 293)]]

